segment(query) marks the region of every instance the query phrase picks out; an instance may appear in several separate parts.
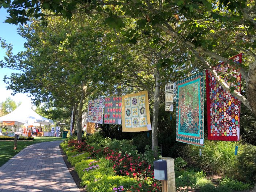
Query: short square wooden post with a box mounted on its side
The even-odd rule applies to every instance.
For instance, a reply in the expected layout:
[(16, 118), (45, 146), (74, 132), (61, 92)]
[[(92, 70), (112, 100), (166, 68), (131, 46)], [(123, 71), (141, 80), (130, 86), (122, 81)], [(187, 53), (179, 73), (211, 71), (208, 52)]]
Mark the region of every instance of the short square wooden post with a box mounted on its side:
[(162, 157), (167, 163), (167, 180), (162, 180), (162, 192), (176, 192), (175, 189), (175, 174), (174, 174), (174, 159), (170, 157)]

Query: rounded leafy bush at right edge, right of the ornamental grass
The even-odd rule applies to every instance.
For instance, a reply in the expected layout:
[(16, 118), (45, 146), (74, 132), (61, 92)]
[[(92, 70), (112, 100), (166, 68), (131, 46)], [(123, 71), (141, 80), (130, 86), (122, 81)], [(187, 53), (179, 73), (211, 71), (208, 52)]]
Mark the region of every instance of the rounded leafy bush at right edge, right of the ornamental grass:
[(256, 180), (256, 146), (248, 145), (238, 155), (238, 168), (246, 180)]

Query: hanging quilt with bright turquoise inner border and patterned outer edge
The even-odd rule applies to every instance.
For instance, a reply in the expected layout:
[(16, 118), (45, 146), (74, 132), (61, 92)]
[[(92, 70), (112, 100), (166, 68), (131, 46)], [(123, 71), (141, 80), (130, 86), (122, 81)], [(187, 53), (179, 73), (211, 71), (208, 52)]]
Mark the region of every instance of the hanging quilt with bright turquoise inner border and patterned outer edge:
[(204, 146), (204, 72), (176, 82), (176, 140)]

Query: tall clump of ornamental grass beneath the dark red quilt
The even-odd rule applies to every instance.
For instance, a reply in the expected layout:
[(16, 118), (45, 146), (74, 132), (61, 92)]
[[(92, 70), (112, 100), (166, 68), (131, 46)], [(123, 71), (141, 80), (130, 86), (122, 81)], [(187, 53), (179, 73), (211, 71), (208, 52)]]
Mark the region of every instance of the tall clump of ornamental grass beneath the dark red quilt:
[(187, 145), (180, 154), (192, 165), (201, 167), (213, 173), (233, 176), (238, 173), (238, 157), (234, 155), (238, 146), (238, 154), (243, 151), (242, 142), (225, 142), (205, 140), (202, 156), (199, 156), (199, 146)]

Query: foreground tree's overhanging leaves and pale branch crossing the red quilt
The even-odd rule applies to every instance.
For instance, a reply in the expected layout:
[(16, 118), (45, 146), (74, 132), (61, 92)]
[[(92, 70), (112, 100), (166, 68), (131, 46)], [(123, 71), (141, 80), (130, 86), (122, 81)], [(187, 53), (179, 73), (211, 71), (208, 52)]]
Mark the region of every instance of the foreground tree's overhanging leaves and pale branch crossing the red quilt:
[[(27, 2), (27, 1), (26, 1)], [(73, 14), (101, 14), (110, 26), (125, 27), (123, 20), (134, 18), (136, 21), (148, 22), (153, 27), (165, 31), (192, 50), (204, 68), (209, 69), (225, 90), (239, 98), (244, 105), (256, 114), (256, 102), (253, 95), (255, 87), (255, 1), (238, 0), (166, 0), (166, 1), (3, 1), (10, 17), (7, 22), (24, 23), (31, 16), (41, 18), (47, 14), (40, 12), (40, 7), (51, 10), (55, 15), (71, 19)], [(36, 8), (34, 8), (36, 7)], [(19, 9), (19, 11), (17, 11)], [(26, 11), (28, 9), (29, 11)], [(141, 26), (142, 29), (144, 26)], [(129, 31), (129, 29), (127, 29)], [(220, 34), (220, 35), (219, 35)], [(226, 34), (226, 35), (225, 35)], [(225, 36), (224, 36), (225, 35)], [(229, 38), (225, 38), (225, 37)], [(136, 40), (133, 38), (133, 41)], [(230, 44), (230, 41), (232, 44)], [(227, 46), (226, 50), (225, 47)], [(223, 56), (219, 53), (221, 47)], [(223, 49), (224, 48), (224, 49)], [(228, 60), (232, 51), (244, 51), (252, 61), (248, 70), (246, 66), (235, 65)], [(200, 53), (200, 54), (199, 54)], [(227, 58), (226, 58), (227, 57)], [(221, 75), (212, 69), (214, 60), (226, 61), (238, 68), (247, 82), (247, 98), (233, 91), (232, 87), (222, 81)]]

